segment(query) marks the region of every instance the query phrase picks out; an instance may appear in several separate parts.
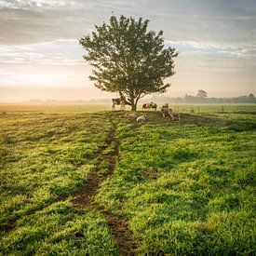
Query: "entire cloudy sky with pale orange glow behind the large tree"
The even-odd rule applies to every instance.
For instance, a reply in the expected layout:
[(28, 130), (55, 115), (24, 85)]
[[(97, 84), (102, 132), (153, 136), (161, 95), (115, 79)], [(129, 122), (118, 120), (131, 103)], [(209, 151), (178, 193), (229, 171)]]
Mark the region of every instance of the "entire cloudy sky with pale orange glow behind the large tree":
[(180, 52), (166, 95), (256, 95), (256, 0), (0, 0), (0, 102), (113, 96), (78, 44), (112, 15), (150, 20)]

